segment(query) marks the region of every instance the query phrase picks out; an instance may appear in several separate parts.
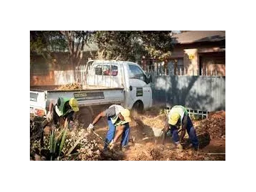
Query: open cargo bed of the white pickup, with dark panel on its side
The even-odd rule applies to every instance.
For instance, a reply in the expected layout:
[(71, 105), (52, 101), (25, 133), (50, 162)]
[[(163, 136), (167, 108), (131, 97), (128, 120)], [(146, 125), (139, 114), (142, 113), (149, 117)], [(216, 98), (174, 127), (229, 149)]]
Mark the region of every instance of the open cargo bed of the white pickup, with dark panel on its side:
[(43, 90), (42, 86), (40, 88), (29, 90), (31, 113), (43, 110), (46, 114), (50, 101), (56, 101), (58, 97), (75, 97), (79, 107), (124, 103), (124, 88), (120, 87), (86, 86), (86, 89), (82, 90)]

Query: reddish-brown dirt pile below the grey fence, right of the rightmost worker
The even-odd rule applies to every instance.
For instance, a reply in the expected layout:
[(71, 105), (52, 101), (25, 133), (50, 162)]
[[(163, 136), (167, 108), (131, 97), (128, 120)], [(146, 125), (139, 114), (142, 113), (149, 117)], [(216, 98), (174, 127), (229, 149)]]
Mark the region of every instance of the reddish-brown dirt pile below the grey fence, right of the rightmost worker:
[(210, 139), (220, 138), (225, 135), (226, 131), (226, 114), (225, 111), (210, 112), (208, 119), (193, 122), (197, 134), (210, 134)]

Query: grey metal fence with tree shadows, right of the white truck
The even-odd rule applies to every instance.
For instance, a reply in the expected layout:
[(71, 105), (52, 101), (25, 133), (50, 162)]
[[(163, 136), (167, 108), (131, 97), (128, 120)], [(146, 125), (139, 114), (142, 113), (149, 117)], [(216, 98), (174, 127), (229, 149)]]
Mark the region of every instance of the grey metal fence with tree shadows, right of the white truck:
[(186, 70), (181, 69), (177, 74), (168, 73), (161, 66), (155, 65), (154, 71), (148, 72), (153, 80), (151, 88), (154, 105), (183, 105), (191, 110), (206, 112), (225, 110), (225, 77), (213, 72), (207, 75), (186, 75)]

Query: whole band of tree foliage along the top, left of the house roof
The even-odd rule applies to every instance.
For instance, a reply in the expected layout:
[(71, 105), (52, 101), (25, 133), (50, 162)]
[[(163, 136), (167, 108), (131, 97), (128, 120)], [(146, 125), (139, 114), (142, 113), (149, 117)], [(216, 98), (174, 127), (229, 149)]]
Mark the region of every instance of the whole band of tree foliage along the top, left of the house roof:
[(142, 56), (165, 60), (169, 58), (171, 30), (115, 30), (115, 31), (46, 31), (29, 30), (29, 51), (52, 60), (57, 51), (69, 51), (69, 62), (75, 68), (80, 63), (85, 45), (95, 42), (97, 58), (131, 60)]

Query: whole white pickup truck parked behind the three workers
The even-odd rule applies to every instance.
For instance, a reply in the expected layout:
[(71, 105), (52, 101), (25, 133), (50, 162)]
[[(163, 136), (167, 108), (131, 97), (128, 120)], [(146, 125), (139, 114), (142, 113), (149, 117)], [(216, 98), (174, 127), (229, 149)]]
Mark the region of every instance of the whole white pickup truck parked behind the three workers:
[(82, 90), (30, 90), (30, 113), (46, 117), (50, 100), (75, 97), (80, 107), (78, 120), (86, 126), (95, 113), (112, 104), (138, 112), (152, 105), (151, 77), (137, 63), (90, 60), (84, 78)]

